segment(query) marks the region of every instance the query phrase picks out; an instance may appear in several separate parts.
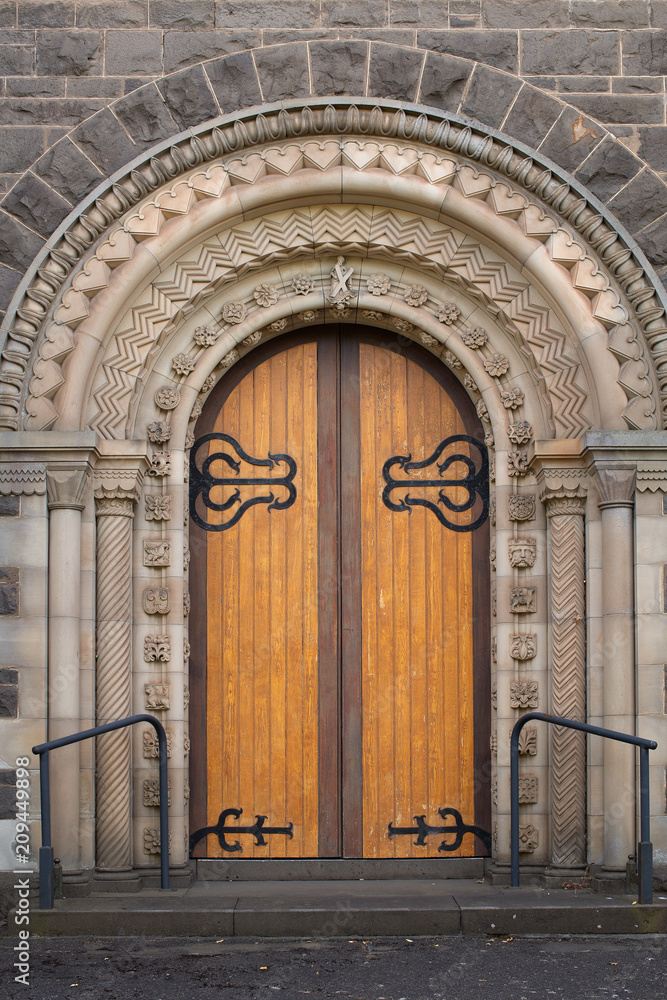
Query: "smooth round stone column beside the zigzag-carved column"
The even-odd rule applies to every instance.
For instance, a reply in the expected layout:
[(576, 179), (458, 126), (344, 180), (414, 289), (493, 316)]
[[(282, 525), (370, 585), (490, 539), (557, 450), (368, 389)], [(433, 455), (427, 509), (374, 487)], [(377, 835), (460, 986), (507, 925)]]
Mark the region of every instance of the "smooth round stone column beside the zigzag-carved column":
[[(597, 463), (602, 514), (604, 725), (635, 732), (634, 469)], [(635, 850), (635, 750), (604, 741), (604, 863)]]

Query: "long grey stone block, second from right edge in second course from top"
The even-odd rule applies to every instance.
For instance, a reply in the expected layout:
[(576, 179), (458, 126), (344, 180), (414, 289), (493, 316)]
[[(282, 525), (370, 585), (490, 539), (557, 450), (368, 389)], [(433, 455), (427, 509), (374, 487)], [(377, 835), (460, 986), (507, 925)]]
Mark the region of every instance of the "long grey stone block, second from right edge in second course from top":
[(523, 73), (607, 74), (620, 72), (617, 31), (522, 31)]

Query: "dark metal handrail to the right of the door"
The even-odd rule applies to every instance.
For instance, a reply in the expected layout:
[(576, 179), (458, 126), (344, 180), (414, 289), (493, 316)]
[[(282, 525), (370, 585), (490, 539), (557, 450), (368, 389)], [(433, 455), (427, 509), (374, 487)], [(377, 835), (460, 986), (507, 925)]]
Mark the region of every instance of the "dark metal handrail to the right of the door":
[(618, 740), (620, 743), (632, 743), (639, 747), (641, 830), (637, 845), (638, 890), (640, 903), (652, 903), (653, 844), (651, 843), (649, 807), (648, 752), (655, 750), (658, 744), (655, 740), (646, 740), (642, 736), (629, 736), (627, 733), (617, 733), (614, 729), (590, 726), (587, 722), (575, 722), (574, 719), (563, 719), (558, 715), (545, 715), (543, 712), (528, 712), (526, 715), (522, 715), (512, 729), (510, 743), (512, 886), (516, 888), (519, 885), (519, 734), (531, 719), (536, 719), (538, 722), (548, 722), (552, 726), (563, 726), (565, 729), (578, 729), (583, 733), (593, 733), (594, 736)]

